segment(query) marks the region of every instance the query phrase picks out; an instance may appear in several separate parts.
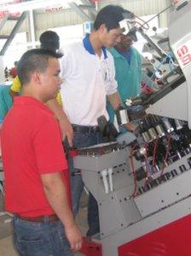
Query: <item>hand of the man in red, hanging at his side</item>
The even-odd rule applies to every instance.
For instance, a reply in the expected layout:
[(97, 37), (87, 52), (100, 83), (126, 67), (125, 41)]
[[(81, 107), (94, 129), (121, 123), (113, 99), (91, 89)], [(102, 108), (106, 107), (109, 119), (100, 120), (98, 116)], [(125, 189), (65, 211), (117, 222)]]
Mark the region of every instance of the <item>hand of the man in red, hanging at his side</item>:
[(73, 224), (70, 228), (65, 229), (67, 240), (70, 243), (72, 252), (77, 252), (81, 249), (83, 243), (83, 236), (76, 224)]

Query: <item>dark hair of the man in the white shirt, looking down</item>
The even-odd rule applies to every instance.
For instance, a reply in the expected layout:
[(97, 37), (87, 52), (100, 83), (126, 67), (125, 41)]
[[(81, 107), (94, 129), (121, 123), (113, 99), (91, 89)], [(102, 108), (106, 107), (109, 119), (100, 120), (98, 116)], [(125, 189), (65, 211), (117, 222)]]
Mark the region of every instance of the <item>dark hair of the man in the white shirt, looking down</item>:
[(109, 4), (101, 9), (96, 15), (94, 29), (98, 30), (101, 24), (105, 24), (107, 31), (119, 27), (119, 21), (124, 20), (125, 15), (130, 12), (119, 5)]

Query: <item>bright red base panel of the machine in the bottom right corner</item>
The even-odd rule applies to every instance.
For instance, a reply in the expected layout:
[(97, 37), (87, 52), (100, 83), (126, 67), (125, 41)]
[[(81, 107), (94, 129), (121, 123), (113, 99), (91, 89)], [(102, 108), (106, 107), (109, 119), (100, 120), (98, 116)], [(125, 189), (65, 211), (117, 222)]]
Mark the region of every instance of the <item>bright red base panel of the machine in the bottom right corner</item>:
[(119, 256), (190, 256), (190, 227), (191, 216), (182, 217), (120, 246)]

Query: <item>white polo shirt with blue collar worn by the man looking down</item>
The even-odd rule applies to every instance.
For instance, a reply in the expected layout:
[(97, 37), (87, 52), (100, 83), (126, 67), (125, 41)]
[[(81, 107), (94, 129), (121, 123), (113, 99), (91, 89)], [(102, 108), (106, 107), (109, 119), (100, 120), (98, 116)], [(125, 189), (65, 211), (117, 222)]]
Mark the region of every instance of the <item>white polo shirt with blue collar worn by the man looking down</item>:
[(96, 126), (106, 116), (107, 95), (117, 92), (112, 55), (90, 54), (84, 43), (68, 45), (61, 58), (61, 98), (63, 109), (73, 124)]

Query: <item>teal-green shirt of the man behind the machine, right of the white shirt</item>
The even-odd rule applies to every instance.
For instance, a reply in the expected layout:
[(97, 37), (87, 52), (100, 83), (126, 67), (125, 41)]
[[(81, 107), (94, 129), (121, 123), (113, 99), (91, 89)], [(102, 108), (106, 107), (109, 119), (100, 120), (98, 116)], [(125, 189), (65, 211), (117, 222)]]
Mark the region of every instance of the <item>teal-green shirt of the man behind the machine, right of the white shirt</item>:
[[(124, 102), (126, 98), (135, 97), (141, 92), (142, 59), (135, 48), (130, 47), (130, 64), (114, 48), (109, 49), (113, 55), (115, 65), (115, 80), (118, 82), (118, 92)], [(107, 102), (107, 112), (110, 122), (114, 119), (114, 110)]]

